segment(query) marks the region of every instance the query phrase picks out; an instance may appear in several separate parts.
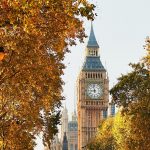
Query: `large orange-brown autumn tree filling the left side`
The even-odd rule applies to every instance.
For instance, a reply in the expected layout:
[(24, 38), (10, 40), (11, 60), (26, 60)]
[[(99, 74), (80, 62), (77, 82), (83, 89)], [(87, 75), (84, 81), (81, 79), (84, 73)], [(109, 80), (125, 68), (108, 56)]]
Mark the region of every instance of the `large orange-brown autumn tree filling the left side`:
[(62, 63), (69, 45), (85, 37), (82, 17), (93, 19), (86, 0), (1, 0), (1, 149), (33, 149), (35, 135), (49, 142), (57, 132)]

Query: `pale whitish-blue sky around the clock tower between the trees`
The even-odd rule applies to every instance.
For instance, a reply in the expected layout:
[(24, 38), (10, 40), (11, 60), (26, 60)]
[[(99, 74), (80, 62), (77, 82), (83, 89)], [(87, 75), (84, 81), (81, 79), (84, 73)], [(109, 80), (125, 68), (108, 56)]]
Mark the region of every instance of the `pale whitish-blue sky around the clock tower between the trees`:
[[(110, 87), (121, 73), (130, 71), (128, 64), (138, 62), (144, 56), (144, 41), (150, 35), (150, 0), (91, 0), (98, 14), (93, 26), (100, 46), (100, 55), (106, 67)], [(90, 33), (90, 22), (85, 22), (86, 34)], [(78, 44), (67, 54), (63, 79), (64, 96), (69, 113), (74, 110), (75, 82), (82, 66), (87, 44)], [(43, 150), (39, 144), (36, 150)]]

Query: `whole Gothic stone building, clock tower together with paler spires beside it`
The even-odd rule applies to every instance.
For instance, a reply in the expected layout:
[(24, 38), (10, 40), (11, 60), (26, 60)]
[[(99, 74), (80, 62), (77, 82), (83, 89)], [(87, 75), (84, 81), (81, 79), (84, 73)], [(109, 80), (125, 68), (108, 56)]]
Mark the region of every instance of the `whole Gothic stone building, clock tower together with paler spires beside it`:
[(115, 106), (109, 105), (109, 78), (100, 59), (100, 47), (93, 25), (76, 87), (77, 115), (75, 111), (72, 121), (68, 122), (68, 112), (64, 108), (60, 146), (56, 148), (58, 143), (55, 142), (52, 150), (85, 150), (88, 142), (95, 136), (100, 121), (115, 114)]

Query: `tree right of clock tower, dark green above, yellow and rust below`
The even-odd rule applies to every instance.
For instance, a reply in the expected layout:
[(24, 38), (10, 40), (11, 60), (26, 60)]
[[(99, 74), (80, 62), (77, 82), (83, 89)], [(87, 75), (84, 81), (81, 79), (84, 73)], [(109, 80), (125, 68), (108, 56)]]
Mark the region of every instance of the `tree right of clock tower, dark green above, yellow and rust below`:
[(113, 102), (120, 113), (114, 121), (114, 137), (118, 150), (150, 149), (150, 70), (149, 41), (147, 55), (133, 70), (122, 75), (111, 89)]

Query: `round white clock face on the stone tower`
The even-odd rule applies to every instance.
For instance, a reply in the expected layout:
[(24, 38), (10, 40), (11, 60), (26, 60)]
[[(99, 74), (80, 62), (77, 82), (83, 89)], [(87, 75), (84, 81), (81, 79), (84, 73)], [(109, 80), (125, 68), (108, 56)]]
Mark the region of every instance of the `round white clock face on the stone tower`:
[(102, 87), (100, 84), (89, 84), (87, 87), (87, 94), (92, 99), (98, 99), (103, 93)]

